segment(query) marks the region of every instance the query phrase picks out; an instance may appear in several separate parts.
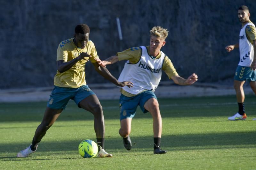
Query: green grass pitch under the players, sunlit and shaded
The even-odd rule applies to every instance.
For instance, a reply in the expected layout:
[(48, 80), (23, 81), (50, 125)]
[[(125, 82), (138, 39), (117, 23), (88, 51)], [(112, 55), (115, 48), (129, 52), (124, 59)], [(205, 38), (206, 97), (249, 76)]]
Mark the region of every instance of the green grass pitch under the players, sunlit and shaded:
[(237, 111), (235, 96), (159, 99), (162, 149), (153, 154), (150, 114), (140, 109), (132, 121), (132, 150), (118, 134), (118, 100), (102, 100), (105, 150), (113, 158), (84, 159), (78, 144), (96, 141), (91, 113), (68, 103), (36, 153), (16, 158), (31, 144), (46, 102), (0, 103), (0, 169), (256, 169), (255, 97), (246, 96), (246, 121), (228, 121)]

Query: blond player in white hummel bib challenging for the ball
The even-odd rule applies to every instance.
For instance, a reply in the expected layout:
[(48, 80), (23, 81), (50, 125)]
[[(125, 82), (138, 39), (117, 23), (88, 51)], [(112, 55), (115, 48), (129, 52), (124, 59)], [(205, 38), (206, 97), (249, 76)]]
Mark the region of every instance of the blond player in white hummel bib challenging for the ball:
[[(160, 49), (165, 45), (168, 36), (167, 29), (155, 26), (150, 30), (150, 45), (138, 48), (130, 48), (109, 57), (98, 63), (104, 67), (117, 61), (128, 60), (120, 74), (118, 81), (128, 78), (134, 84), (131, 89), (121, 88), (120, 96), (120, 136), (123, 137), (124, 147), (132, 148), (129, 137), (131, 133), (132, 118), (137, 106), (143, 113), (150, 112), (153, 117), (154, 154), (166, 153), (160, 148), (162, 135), (162, 117), (158, 101), (154, 93), (158, 86), (162, 70), (178, 85), (191, 85), (197, 81), (197, 75), (193, 73), (187, 79), (178, 75), (171, 60)], [(171, 89), (170, 89), (171, 90)]]

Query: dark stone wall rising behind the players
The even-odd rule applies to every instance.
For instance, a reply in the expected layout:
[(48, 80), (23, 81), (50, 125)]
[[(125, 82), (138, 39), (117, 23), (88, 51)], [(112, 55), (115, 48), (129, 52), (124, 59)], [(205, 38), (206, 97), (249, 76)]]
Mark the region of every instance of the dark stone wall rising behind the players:
[[(196, 72), (199, 82), (229, 83), (239, 61), (239, 50), (225, 46), (238, 42), (241, 24), (237, 8), (247, 5), (256, 22), (256, 1), (248, 0), (13, 0), (0, 2), (1, 89), (46, 87), (56, 74), (56, 49), (72, 38), (74, 27), (91, 28), (101, 59), (116, 52), (149, 45), (149, 30), (169, 30), (162, 51), (170, 57), (180, 76)], [(123, 40), (118, 38), (120, 18)], [(108, 66), (118, 78), (124, 62)], [(162, 80), (168, 80), (164, 74)], [(86, 81), (106, 83), (92, 64), (86, 65)]]

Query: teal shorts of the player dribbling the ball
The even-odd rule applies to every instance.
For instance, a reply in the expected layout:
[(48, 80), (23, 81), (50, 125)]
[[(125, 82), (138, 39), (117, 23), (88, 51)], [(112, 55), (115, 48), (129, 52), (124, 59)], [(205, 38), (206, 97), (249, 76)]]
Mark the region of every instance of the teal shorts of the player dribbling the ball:
[(74, 100), (79, 106), (79, 102), (84, 98), (95, 94), (88, 87), (88, 85), (82, 85), (78, 88), (67, 88), (54, 86), (50, 99), (47, 102), (47, 107), (52, 109), (65, 109), (70, 99)]

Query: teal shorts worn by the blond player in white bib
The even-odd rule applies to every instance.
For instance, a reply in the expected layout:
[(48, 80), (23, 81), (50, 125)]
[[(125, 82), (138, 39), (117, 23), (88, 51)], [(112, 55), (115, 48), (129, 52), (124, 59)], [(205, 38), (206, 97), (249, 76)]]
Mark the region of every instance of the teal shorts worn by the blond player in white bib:
[(133, 118), (136, 113), (137, 106), (140, 106), (140, 109), (143, 113), (147, 113), (148, 110), (144, 108), (145, 103), (148, 99), (156, 98), (154, 92), (147, 90), (137, 94), (136, 96), (126, 97), (123, 94), (120, 96), (119, 105), (120, 105), (120, 120), (126, 118)]

